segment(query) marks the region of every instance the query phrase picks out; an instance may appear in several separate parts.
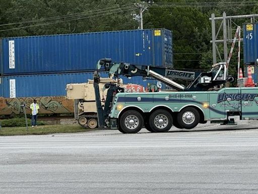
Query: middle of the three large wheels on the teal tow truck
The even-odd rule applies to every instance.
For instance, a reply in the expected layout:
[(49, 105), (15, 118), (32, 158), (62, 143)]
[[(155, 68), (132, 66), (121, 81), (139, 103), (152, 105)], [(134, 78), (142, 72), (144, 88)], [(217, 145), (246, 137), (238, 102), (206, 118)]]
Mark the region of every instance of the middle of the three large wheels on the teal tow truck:
[(149, 125), (154, 132), (167, 132), (173, 125), (173, 117), (166, 110), (156, 110), (149, 118)]

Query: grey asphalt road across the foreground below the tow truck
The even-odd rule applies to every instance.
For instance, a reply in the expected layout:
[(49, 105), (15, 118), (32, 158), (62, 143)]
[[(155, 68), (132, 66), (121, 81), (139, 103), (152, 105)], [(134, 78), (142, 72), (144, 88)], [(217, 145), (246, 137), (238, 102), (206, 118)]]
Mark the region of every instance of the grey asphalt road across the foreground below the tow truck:
[(2, 136), (0, 193), (258, 193), (255, 127)]

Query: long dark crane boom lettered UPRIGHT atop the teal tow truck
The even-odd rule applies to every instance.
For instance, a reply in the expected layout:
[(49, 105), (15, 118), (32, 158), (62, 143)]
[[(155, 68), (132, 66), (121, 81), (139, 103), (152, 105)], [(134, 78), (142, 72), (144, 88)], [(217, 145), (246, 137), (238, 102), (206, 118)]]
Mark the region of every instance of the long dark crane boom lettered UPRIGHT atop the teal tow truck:
[[(111, 59), (100, 59), (97, 64), (97, 70), (104, 67), (110, 75), (119, 77), (143, 76), (152, 77), (165, 83), (166, 85), (177, 89), (178, 91), (207, 91), (208, 89), (225, 83), (226, 78), (226, 63), (220, 62), (213, 65), (209, 72), (188, 72), (177, 71), (162, 67), (141, 66), (129, 63), (112, 63)], [(192, 81), (187, 87), (176, 83), (171, 79), (182, 79)], [(232, 79), (230, 79), (232, 80)]]

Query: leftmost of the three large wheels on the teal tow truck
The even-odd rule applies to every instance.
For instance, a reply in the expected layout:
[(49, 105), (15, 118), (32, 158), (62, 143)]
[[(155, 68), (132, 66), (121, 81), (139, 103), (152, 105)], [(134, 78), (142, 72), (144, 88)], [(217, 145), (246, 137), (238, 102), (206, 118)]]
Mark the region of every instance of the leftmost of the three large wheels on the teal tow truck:
[(125, 111), (119, 121), (119, 131), (122, 133), (137, 133), (143, 127), (143, 116), (138, 111)]

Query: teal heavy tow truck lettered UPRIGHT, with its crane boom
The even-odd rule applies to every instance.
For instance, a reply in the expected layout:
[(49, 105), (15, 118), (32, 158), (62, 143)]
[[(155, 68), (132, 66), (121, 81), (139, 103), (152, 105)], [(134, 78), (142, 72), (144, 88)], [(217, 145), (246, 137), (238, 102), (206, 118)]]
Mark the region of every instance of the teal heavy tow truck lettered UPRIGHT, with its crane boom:
[[(124, 93), (119, 85), (107, 83), (104, 109), (100, 98), (96, 100), (99, 127), (108, 126), (122, 133), (137, 133), (143, 127), (151, 132), (166, 132), (173, 125), (192, 129), (207, 121), (234, 123), (235, 116), (258, 119), (258, 88), (219, 87), (233, 81), (232, 76), (226, 76), (224, 62), (213, 65), (209, 72), (195, 73), (101, 59), (94, 73), (96, 96), (99, 96), (98, 70), (103, 67), (116, 78), (121, 75), (151, 77), (176, 90)], [(191, 83), (185, 87), (171, 80), (174, 78), (188, 79)]]

